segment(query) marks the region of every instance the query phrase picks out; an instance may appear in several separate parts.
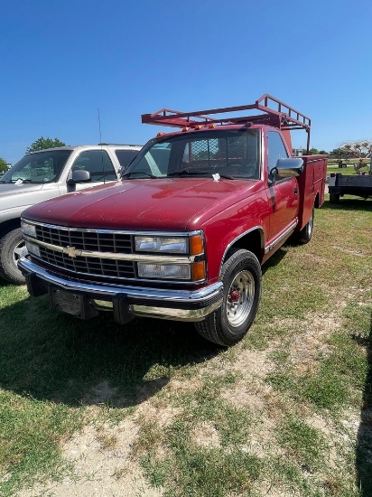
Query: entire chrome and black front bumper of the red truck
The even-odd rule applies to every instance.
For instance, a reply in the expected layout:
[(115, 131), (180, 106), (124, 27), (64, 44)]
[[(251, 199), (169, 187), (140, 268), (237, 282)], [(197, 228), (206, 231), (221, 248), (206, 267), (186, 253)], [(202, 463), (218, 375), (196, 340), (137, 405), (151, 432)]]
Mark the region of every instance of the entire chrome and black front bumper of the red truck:
[(122, 324), (134, 316), (197, 322), (202, 321), (222, 304), (221, 282), (198, 290), (163, 290), (60, 277), (25, 257), (20, 258), (18, 267), (26, 278), (30, 295), (49, 293), (52, 302), (52, 295), (56, 293), (65, 295), (67, 300), (71, 300), (71, 295), (75, 295), (84, 303), (85, 311), (70, 312), (58, 305), (54, 306), (83, 319), (97, 315), (98, 311), (108, 310), (112, 311), (116, 321)]

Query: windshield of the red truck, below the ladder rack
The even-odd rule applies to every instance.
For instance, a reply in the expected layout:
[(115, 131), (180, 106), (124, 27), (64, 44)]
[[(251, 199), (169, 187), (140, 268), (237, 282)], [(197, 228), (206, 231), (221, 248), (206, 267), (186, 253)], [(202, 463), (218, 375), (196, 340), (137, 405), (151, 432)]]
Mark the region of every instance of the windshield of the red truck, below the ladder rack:
[(122, 177), (205, 176), (258, 179), (258, 129), (207, 130), (150, 140)]

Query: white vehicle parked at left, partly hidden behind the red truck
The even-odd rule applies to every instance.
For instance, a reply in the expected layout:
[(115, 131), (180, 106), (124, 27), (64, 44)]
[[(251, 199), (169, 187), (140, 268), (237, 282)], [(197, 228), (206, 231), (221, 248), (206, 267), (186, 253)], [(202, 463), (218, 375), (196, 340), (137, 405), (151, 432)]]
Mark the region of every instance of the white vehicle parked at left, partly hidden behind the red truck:
[(78, 145), (26, 154), (0, 178), (0, 277), (23, 284), (17, 260), (27, 253), (21, 212), (64, 193), (117, 181), (141, 145)]

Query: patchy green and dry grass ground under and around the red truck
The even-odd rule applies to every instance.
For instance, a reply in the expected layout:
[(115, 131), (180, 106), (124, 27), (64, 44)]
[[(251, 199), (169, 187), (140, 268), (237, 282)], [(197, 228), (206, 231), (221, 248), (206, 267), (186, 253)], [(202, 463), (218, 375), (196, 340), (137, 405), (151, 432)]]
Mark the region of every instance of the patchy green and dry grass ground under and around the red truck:
[[(372, 495), (371, 229), (372, 202), (327, 200), (312, 242), (265, 265), (228, 350), (191, 324), (80, 322), (1, 285), (0, 495), (79, 483), (64, 443), (90, 427), (114, 457), (126, 422), (127, 464), (165, 496)], [(118, 462), (112, 478), (133, 475)]]

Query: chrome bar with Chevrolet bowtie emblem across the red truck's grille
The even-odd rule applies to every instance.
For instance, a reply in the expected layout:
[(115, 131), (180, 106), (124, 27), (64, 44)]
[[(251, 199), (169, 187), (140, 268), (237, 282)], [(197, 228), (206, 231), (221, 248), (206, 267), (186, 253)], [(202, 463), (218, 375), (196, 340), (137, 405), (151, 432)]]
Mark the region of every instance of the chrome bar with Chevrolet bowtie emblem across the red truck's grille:
[(170, 254), (167, 255), (146, 255), (146, 254), (138, 254), (138, 252), (135, 252), (135, 254), (121, 254), (118, 252), (97, 252), (95, 250), (79, 250), (75, 247), (60, 247), (58, 245), (52, 245), (51, 243), (46, 243), (45, 241), (41, 241), (39, 239), (34, 239), (33, 237), (30, 237), (29, 235), (23, 234), (23, 238), (26, 241), (30, 241), (34, 243), (35, 245), (40, 245), (41, 247), (44, 248), (49, 248), (50, 250), (53, 250), (54, 252), (60, 252), (62, 254), (67, 254), (70, 258), (76, 258), (78, 256), (85, 257), (85, 258), (109, 258), (109, 259), (114, 259), (114, 260), (128, 260), (128, 261), (134, 261), (134, 262), (147, 262), (147, 263), (154, 263), (154, 264), (191, 264), (191, 262), (195, 262), (195, 258), (200, 258), (200, 255), (198, 254), (196, 256), (171, 256)]

